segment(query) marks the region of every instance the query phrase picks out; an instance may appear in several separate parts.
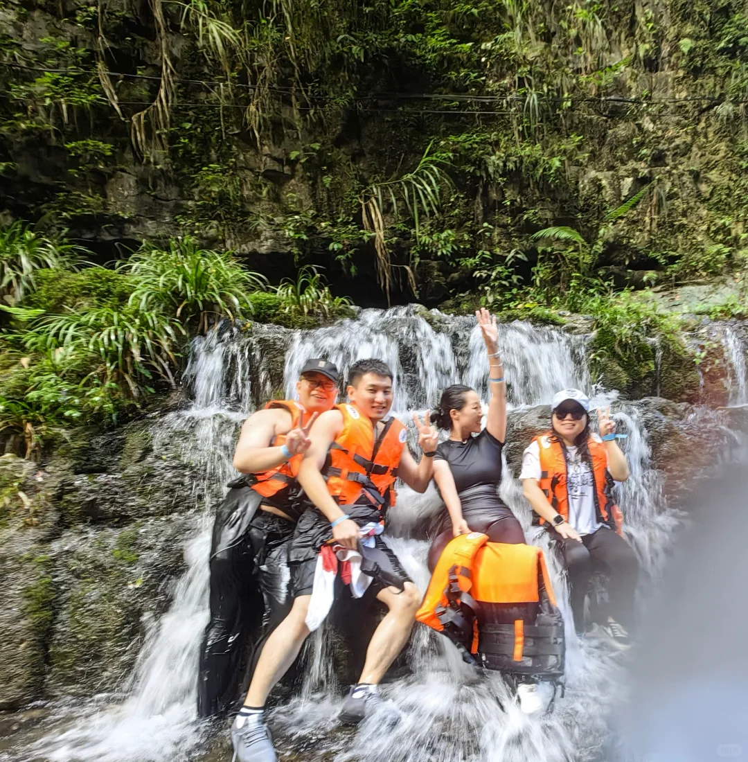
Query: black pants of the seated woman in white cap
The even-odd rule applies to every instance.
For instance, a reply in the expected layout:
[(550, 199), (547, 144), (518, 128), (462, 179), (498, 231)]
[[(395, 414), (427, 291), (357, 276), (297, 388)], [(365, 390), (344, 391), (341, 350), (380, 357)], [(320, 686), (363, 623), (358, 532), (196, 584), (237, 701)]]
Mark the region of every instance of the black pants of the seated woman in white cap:
[(577, 632), (584, 629), (584, 598), (594, 571), (602, 571), (608, 578), (606, 616), (612, 616), (627, 628), (633, 627), (639, 564), (625, 539), (609, 527), (600, 527), (596, 532), (584, 535), (581, 543), (576, 539), (565, 539), (552, 527), (548, 527), (548, 534), (558, 543), (557, 548), (568, 570), (571, 611)]

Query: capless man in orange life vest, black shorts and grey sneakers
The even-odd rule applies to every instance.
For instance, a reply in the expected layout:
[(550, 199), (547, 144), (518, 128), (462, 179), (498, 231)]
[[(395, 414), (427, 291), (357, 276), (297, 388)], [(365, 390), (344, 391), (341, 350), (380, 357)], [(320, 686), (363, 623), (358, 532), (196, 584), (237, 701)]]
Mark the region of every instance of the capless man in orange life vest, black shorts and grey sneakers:
[[(264, 705), (309, 634), (309, 603), (321, 547), (334, 539), (344, 549), (359, 549), (362, 527), (377, 527), (394, 502), (396, 477), (424, 492), (432, 476), (437, 434), (429, 425), (429, 413), (424, 424), (414, 416), (424, 451), (416, 463), (405, 445), (404, 425), (387, 418), (392, 407), (392, 371), (382, 360), (359, 360), (350, 368), (349, 378), (349, 404), (337, 405), (319, 417), (310, 434), (312, 447), (299, 469), (299, 484), (313, 505), (299, 519), (291, 543), (291, 587), (296, 600), (267, 640), (245, 706), (232, 726), (238, 762), (277, 759), (264, 724)], [(420, 604), (420, 593), (395, 554), (379, 536), (374, 540), (379, 571), (372, 575), (371, 588), (388, 613), (369, 642), (359, 683), (344, 703), (340, 716), (344, 722), (360, 722), (381, 703), (377, 685), (408, 641)]]

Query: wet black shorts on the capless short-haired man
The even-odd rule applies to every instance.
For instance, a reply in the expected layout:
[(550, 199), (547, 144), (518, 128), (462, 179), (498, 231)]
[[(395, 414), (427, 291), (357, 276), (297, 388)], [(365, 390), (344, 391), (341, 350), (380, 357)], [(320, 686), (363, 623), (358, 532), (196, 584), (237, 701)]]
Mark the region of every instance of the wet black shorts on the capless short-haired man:
[[(370, 505), (347, 505), (346, 513), (360, 526), (369, 521), (379, 523), (382, 515)], [(315, 507), (310, 507), (296, 523), (289, 549), (289, 568), (291, 571), (290, 591), (292, 597), (311, 595), (315, 583), (317, 556), (321, 547), (332, 538), (332, 530), (328, 519)], [(382, 573), (372, 579), (367, 595), (376, 595), (379, 591), (395, 586), (401, 588), (411, 578), (405, 573), (398, 557), (392, 552), (381, 536), (376, 536), (376, 562)], [(336, 588), (337, 592), (337, 588)]]

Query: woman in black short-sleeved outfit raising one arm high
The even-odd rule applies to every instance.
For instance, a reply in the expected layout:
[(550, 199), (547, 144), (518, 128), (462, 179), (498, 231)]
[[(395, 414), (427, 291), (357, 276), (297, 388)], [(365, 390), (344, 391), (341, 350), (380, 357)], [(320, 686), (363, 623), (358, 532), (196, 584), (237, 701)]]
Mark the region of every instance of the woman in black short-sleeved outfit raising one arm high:
[(445, 389), (436, 411), (436, 425), (449, 429), (449, 439), (436, 448), (434, 456), (433, 476), (447, 515), (429, 552), (432, 570), (449, 540), (459, 534), (481, 532), (491, 543), (525, 542), (522, 526), (498, 495), (501, 448), (507, 432), (507, 385), (497, 347), (496, 318), (491, 318), (487, 309), (478, 310), (475, 316), (488, 353), (491, 402), (483, 431), (481, 399), (469, 386), (456, 384)]

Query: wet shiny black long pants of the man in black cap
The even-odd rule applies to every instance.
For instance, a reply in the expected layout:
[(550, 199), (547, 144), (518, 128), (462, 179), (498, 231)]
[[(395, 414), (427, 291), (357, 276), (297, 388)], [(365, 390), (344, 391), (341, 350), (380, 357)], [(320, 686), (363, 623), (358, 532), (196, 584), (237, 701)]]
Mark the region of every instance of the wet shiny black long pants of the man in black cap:
[(210, 620), (200, 648), (197, 693), (201, 717), (231, 709), (264, 640), (292, 603), (288, 546), (295, 525), (262, 511), (260, 500), (251, 488), (233, 488), (213, 524)]

